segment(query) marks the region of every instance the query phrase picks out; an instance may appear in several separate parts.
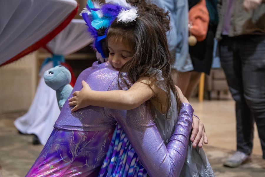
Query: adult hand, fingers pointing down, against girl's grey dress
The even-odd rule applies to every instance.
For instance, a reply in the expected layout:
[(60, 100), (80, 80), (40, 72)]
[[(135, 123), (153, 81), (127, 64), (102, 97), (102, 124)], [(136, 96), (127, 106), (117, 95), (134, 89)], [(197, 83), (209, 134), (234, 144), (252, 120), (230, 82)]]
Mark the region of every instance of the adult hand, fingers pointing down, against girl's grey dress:
[(205, 132), (205, 128), (200, 119), (193, 115), (192, 119), (192, 132), (191, 132), (192, 147), (198, 146), (201, 148), (204, 144), (208, 144), (208, 138)]

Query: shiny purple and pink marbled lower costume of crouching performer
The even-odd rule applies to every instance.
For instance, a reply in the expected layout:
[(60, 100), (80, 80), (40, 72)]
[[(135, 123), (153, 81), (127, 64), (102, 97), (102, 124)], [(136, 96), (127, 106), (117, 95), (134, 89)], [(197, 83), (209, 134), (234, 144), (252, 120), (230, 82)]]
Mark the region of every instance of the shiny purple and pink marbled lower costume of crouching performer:
[(113, 129), (85, 132), (54, 128), (26, 177), (97, 176), (112, 132)]

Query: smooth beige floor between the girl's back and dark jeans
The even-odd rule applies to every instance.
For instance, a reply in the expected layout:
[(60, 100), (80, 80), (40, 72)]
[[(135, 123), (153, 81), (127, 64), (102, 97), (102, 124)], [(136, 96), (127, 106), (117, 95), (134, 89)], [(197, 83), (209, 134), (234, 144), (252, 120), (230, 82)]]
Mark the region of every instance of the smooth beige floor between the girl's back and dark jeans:
[[(206, 127), (209, 144), (214, 147), (236, 150), (235, 102), (229, 100), (191, 99), (191, 105)], [(254, 128), (253, 154), (262, 155), (257, 127)]]

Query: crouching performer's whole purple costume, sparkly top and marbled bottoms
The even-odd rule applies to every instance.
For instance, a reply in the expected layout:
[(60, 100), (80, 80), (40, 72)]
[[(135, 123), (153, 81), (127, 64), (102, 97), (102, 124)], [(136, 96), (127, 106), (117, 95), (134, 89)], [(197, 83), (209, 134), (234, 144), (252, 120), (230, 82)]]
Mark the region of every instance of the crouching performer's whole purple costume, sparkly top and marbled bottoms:
[[(95, 62), (80, 74), (72, 92), (82, 89), (82, 80), (92, 90), (117, 90), (117, 74), (109, 63)], [(88, 106), (72, 113), (70, 109), (64, 104), (49, 140), (26, 176), (97, 176), (116, 123), (150, 176), (179, 176), (191, 131), (190, 104), (182, 104), (167, 145), (145, 104), (132, 110)]]

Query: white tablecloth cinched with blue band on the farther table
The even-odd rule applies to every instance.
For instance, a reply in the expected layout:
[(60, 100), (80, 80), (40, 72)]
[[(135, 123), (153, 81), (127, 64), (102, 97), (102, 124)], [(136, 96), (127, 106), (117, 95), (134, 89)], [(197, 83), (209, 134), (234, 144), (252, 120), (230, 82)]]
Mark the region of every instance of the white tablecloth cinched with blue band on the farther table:
[[(85, 21), (72, 19), (71, 23), (52, 39), (47, 47), (56, 55), (68, 55), (90, 44), (92, 39), (86, 33)], [(40, 72), (40, 81), (29, 111), (14, 122), (22, 133), (35, 134), (44, 145), (52, 132), (60, 110), (56, 92), (44, 83), (43, 73), (53, 67), (49, 62)]]

